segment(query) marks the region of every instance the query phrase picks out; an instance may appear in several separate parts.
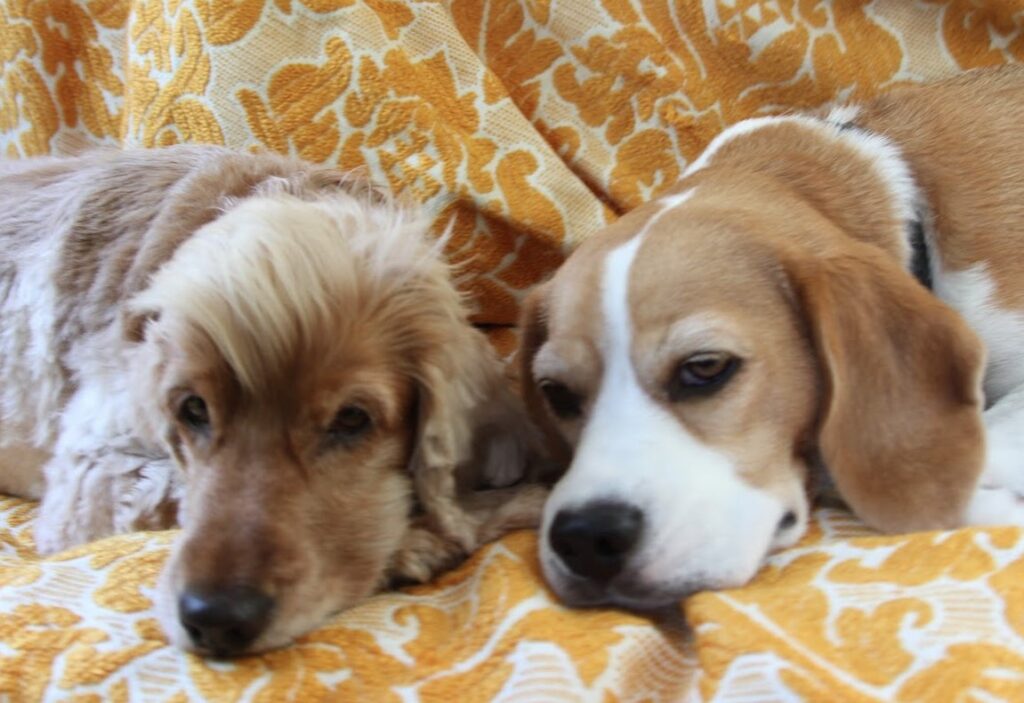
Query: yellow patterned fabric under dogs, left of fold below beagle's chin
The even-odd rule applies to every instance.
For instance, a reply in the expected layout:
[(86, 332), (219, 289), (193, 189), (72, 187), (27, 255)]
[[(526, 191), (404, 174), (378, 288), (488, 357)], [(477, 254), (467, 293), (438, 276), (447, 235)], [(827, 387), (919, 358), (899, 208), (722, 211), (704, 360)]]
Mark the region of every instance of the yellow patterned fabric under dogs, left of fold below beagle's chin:
[[(429, 586), (380, 596), (290, 648), (210, 663), (167, 646), (152, 598), (174, 533), (35, 557), (35, 507), (0, 498), (0, 700), (678, 700), (684, 629), (572, 612), (521, 532)], [(611, 696), (604, 698), (603, 694)]]

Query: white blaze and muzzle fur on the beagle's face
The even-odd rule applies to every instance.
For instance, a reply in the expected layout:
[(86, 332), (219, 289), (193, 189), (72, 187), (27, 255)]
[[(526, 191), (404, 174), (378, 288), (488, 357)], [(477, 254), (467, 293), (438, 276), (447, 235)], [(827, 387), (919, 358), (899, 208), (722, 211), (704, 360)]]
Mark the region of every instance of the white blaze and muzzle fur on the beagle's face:
[[(660, 212), (605, 261), (601, 389), (567, 474), (545, 509), (555, 515), (600, 499), (639, 508), (641, 542), (603, 596), (625, 606), (660, 605), (695, 587), (737, 585), (754, 575), (784, 512), (781, 502), (738, 475), (732, 460), (696, 440), (641, 387), (633, 366), (630, 270), (645, 233), (687, 191), (666, 199)], [(572, 576), (542, 540), (545, 573), (556, 588)]]

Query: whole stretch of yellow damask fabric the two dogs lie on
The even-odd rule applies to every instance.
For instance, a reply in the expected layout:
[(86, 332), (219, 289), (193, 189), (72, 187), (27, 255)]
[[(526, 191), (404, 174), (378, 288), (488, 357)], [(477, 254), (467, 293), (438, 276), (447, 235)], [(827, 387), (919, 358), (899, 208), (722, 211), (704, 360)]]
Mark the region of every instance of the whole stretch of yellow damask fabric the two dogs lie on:
[(691, 598), (688, 626), (558, 606), (521, 532), (288, 649), (206, 662), (152, 610), (174, 533), (39, 560), (34, 513), (0, 499), (0, 700), (1024, 700), (1017, 528), (881, 537), (821, 510), (754, 583)]

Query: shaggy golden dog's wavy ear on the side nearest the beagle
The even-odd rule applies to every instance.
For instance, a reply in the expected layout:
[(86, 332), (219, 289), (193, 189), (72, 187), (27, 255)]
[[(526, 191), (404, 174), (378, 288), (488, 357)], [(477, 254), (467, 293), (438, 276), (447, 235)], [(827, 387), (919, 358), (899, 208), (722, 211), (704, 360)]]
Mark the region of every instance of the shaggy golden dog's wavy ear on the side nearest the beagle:
[(412, 470), (417, 498), (435, 526), (467, 552), (479, 544), (478, 520), (459, 502), (460, 489), (508, 486), (539, 453), (537, 431), (512, 393), (486, 338), (451, 303), (439, 315), (433, 296), (427, 321), (435, 340), (418, 372), (418, 442)]

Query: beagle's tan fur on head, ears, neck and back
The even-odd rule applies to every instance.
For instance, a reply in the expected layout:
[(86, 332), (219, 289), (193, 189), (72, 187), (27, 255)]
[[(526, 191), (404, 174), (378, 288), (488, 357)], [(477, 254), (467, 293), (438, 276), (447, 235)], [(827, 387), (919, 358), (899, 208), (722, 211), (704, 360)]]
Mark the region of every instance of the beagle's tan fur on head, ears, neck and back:
[[(976, 72), (882, 97), (854, 125), (902, 155), (940, 265), (985, 264), (999, 301), (1024, 311), (1022, 96), (1024, 68)], [(523, 315), (523, 394), (552, 442), (575, 446), (586, 411), (558, 421), (537, 384), (554, 375), (585, 408), (600, 392), (600, 271), (644, 232), (629, 274), (631, 361), (689, 436), (783, 501), (773, 486), (804, 480), (820, 456), (880, 529), (964, 524), (986, 456), (985, 352), (906, 270), (908, 203), (859, 138), (809, 120), (739, 133), (573, 253)], [(691, 328), (677, 343), (680, 324)], [(718, 395), (670, 402), (666, 380), (701, 345), (744, 365)]]

